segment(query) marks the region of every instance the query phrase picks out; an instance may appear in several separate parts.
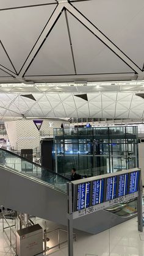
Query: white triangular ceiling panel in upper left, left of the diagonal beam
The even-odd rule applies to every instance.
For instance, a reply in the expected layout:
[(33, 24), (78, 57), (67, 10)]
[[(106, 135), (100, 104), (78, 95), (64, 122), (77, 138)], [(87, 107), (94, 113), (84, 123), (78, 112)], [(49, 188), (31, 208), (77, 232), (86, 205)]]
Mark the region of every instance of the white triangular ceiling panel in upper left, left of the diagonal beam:
[[(55, 7), (52, 4), (1, 12), (1, 42), (16, 71), (20, 71)], [(1, 58), (0, 56), (0, 62), (4, 62), (5, 59)]]

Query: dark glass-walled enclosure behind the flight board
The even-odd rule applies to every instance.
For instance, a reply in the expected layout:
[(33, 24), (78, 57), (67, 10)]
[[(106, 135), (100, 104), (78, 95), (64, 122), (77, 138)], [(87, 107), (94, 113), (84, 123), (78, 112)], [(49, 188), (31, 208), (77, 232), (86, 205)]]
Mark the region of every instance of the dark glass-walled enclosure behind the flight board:
[(138, 166), (137, 126), (54, 129), (56, 172), (95, 176)]

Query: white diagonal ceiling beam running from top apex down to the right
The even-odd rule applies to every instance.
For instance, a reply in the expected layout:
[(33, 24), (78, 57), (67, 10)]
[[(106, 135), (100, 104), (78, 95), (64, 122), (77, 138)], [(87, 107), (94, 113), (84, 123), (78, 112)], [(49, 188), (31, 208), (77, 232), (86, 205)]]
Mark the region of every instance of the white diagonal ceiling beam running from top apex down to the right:
[(112, 51), (117, 54), (126, 64), (129, 65), (137, 74), (143, 76), (143, 71), (140, 70), (125, 54), (120, 51), (101, 31), (99, 31), (90, 21), (88, 21), (80, 12), (78, 12), (73, 5), (68, 2), (65, 3), (67, 10), (73, 14), (84, 26), (86, 26), (93, 34), (95, 34), (105, 45), (107, 45)]

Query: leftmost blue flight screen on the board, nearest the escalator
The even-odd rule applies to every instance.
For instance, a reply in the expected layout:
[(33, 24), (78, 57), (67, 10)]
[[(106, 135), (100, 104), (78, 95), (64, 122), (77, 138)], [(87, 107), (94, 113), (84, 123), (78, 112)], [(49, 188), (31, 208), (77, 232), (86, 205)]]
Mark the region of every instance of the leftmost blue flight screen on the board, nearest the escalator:
[(90, 182), (81, 183), (77, 188), (77, 210), (90, 206)]

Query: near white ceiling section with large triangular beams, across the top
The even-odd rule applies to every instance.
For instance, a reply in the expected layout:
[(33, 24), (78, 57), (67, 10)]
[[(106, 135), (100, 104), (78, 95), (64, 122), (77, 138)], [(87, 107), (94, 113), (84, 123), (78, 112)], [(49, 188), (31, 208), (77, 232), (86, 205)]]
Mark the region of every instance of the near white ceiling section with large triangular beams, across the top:
[(0, 82), (142, 80), (143, 0), (0, 0)]

